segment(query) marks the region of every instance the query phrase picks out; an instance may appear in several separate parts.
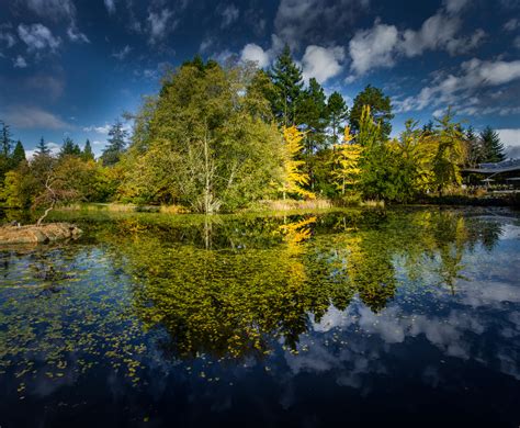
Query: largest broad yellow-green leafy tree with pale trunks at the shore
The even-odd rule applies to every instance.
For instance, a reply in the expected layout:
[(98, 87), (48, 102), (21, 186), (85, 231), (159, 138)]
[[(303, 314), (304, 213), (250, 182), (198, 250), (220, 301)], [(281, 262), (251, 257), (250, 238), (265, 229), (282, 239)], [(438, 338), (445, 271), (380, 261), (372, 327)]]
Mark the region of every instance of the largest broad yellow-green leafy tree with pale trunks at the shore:
[(168, 74), (136, 117), (122, 194), (211, 214), (274, 192), (280, 134), (269, 101), (251, 87), (256, 74), (192, 64)]

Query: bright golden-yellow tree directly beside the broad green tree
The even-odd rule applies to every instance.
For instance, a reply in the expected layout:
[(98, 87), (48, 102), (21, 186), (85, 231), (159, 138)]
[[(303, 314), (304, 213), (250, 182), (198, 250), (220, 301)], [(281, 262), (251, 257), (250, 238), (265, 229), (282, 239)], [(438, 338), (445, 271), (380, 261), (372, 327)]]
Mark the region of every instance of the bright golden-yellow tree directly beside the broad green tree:
[(284, 161), (281, 188), (283, 199), (287, 193), (308, 199), (315, 198), (314, 193), (303, 188), (309, 181), (308, 174), (302, 170), (305, 162), (298, 159), (303, 149), (302, 140), (304, 137), (305, 134), (294, 125), (283, 128)]

